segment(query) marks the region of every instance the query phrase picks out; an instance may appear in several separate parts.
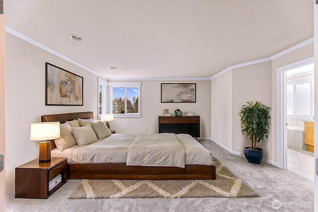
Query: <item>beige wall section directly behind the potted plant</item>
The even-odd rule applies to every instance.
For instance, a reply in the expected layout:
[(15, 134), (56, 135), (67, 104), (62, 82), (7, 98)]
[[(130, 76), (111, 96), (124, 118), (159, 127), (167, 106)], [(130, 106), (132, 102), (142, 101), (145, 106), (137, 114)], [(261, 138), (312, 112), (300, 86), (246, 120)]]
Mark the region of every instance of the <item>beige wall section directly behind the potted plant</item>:
[[(242, 152), (251, 142), (242, 135), (240, 128), (239, 109), (247, 101), (259, 101), (272, 107), (272, 70), (271, 62), (254, 64), (232, 70), (232, 150)], [(271, 159), (271, 125), (269, 137), (256, 144), (264, 149), (264, 159)]]

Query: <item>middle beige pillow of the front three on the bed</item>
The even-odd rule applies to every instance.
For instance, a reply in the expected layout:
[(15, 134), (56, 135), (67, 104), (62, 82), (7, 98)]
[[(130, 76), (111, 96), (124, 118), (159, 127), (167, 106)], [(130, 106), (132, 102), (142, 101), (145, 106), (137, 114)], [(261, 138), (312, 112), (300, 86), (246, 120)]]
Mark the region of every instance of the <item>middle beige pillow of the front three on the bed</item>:
[(87, 124), (84, 127), (71, 127), (73, 136), (79, 146), (87, 145), (94, 141), (97, 141), (96, 134), (92, 127)]

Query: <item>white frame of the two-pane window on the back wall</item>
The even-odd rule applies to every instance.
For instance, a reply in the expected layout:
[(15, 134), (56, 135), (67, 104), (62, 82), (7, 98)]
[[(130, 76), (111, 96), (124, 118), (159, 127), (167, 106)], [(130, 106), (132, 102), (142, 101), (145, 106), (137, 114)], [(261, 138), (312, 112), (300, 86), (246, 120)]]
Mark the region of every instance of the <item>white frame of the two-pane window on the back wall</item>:
[[(113, 87), (125, 87), (125, 113), (114, 113), (114, 117), (141, 117), (141, 82), (108, 82), (110, 90), (109, 113), (113, 114)], [(138, 113), (127, 113), (127, 87), (138, 87)]]

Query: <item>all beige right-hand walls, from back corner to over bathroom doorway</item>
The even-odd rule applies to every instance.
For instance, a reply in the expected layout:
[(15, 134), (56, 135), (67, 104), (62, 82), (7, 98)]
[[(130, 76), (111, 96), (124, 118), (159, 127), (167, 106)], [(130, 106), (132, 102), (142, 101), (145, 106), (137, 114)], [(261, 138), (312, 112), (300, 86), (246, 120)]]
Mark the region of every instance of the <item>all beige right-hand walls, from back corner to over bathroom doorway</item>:
[[(276, 69), (313, 56), (314, 44), (309, 44), (272, 61), (233, 69), (213, 78), (211, 80), (212, 140), (224, 145), (232, 153), (242, 155), (243, 147), (249, 146), (250, 141), (241, 134), (239, 108), (247, 101), (260, 101), (271, 107), (271, 120), (268, 139), (258, 143), (257, 146), (264, 149), (264, 159), (273, 164), (277, 163)], [(216, 135), (218, 132), (219, 136)], [(229, 140), (222, 139), (220, 132), (231, 134), (231, 137), (229, 136)]]

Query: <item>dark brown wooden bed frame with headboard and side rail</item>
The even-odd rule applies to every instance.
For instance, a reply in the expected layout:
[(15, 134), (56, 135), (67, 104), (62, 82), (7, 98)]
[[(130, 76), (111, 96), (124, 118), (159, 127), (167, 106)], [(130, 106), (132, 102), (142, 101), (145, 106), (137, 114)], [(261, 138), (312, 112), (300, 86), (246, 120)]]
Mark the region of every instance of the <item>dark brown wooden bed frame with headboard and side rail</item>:
[[(42, 122), (72, 121), (93, 118), (93, 112), (64, 113), (41, 116)], [(56, 148), (51, 141), (51, 149)], [(127, 166), (126, 163), (68, 163), (68, 179), (126, 180), (195, 180), (216, 179), (215, 165), (179, 167)]]

